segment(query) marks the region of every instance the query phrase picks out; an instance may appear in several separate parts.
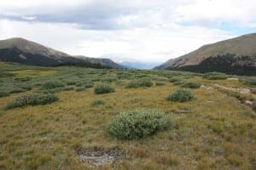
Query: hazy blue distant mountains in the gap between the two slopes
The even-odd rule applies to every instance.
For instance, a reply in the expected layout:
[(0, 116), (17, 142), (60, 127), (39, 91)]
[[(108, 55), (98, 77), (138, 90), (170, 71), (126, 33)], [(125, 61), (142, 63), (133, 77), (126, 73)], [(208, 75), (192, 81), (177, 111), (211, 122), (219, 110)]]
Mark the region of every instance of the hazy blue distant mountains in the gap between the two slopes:
[(153, 69), (155, 65), (159, 65), (160, 63), (153, 62), (137, 62), (137, 61), (123, 61), (119, 63), (119, 65), (125, 66), (125, 68), (130, 69)]

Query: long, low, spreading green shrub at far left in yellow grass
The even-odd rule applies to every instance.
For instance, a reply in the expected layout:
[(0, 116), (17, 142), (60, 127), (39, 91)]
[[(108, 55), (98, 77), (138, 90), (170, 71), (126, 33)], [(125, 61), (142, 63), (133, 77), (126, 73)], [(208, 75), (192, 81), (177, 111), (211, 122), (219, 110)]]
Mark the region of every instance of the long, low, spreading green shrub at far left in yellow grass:
[(46, 105), (58, 100), (55, 94), (27, 94), (19, 96), (5, 106), (6, 110), (24, 105)]

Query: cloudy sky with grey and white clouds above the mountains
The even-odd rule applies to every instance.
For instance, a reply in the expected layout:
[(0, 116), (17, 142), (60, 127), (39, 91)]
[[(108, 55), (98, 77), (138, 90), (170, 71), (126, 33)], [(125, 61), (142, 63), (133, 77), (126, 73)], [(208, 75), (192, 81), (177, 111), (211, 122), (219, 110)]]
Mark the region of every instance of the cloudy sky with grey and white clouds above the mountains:
[(256, 32), (255, 11), (255, 0), (1, 0), (0, 39), (117, 62), (164, 62)]

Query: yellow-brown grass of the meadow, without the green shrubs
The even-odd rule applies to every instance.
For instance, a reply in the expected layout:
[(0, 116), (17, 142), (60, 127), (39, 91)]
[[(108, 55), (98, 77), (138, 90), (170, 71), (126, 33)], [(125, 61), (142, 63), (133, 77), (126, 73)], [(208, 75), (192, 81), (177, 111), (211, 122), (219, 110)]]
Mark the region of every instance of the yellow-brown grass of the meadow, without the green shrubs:
[[(15, 71), (20, 77), (41, 77), (55, 71)], [(113, 73), (111, 73), (113, 74)], [(107, 76), (108, 77), (108, 76)], [(237, 81), (191, 80), (213, 87), (242, 87)], [(253, 169), (256, 157), (256, 122), (246, 116), (251, 111), (238, 100), (217, 89), (191, 89), (195, 99), (186, 103), (166, 100), (179, 88), (172, 82), (151, 88), (124, 88), (113, 82), (115, 92), (94, 94), (57, 93), (59, 101), (51, 105), (26, 106), (4, 111), (15, 96), (0, 98), (0, 169), (95, 169), (79, 161), (77, 146), (119, 146), (130, 159), (119, 161), (119, 169)], [(94, 99), (104, 105), (90, 105)], [(137, 108), (166, 112), (171, 126), (152, 137), (138, 140), (113, 139), (108, 123), (120, 111)], [(186, 110), (188, 113), (176, 114)], [(98, 167), (98, 169), (111, 169)]]

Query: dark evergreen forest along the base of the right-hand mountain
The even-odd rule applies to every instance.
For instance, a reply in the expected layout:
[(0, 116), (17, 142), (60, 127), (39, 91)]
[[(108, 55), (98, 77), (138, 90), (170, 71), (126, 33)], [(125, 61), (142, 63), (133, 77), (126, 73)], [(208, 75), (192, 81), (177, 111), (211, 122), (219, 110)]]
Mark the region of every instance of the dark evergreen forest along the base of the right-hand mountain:
[(231, 75), (256, 76), (256, 55), (236, 57), (235, 54), (224, 54), (209, 57), (199, 65), (184, 65), (181, 67), (167, 67), (172, 71), (210, 72), (218, 71)]

